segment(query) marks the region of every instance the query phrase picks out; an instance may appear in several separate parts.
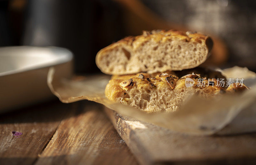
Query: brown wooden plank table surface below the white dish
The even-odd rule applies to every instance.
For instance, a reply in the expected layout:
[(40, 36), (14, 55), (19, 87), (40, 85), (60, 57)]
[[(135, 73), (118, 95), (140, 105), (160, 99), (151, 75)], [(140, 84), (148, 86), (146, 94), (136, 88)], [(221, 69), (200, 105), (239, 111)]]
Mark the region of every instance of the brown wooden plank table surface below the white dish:
[(0, 164), (138, 164), (102, 109), (51, 101), (0, 114)]

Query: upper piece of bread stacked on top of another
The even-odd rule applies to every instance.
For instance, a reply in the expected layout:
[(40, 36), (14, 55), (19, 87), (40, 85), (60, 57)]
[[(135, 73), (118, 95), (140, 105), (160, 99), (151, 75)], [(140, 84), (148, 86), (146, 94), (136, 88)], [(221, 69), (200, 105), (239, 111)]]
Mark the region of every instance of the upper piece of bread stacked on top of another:
[(196, 32), (143, 31), (101, 49), (96, 64), (111, 75), (180, 71), (202, 64), (212, 45), (209, 36)]

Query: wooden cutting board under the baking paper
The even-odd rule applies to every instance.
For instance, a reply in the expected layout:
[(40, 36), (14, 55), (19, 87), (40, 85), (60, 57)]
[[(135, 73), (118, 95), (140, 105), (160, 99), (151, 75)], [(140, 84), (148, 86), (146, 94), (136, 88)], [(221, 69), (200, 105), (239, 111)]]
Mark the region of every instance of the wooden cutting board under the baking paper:
[(191, 136), (105, 111), (141, 164), (256, 163), (256, 133)]

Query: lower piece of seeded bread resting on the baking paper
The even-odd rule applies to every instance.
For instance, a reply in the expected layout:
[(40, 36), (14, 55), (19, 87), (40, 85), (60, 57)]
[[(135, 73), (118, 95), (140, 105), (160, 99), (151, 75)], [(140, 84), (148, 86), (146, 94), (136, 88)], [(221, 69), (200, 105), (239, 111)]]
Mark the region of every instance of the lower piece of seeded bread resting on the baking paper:
[[(221, 74), (216, 73), (212, 76), (223, 78)], [(226, 92), (248, 89), (245, 85), (242, 87), (231, 85), (225, 89), (215, 78), (210, 82), (207, 78), (199, 82), (203, 79), (201, 75), (192, 73), (179, 79), (173, 71), (114, 75), (106, 86), (105, 95), (112, 101), (122, 102), (151, 113), (176, 111), (191, 95), (209, 98)], [(188, 86), (186, 81), (193, 81), (194, 84)]]

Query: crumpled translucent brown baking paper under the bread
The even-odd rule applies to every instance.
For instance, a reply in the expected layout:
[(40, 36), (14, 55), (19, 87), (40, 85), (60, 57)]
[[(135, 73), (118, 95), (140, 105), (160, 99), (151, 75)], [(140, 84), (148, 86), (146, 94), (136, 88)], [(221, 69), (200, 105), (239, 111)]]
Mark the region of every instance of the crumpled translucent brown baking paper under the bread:
[(218, 99), (190, 97), (180, 110), (170, 113), (145, 113), (108, 100), (104, 94), (105, 86), (110, 79), (108, 75), (58, 79), (52, 67), (48, 72), (47, 84), (52, 93), (64, 103), (90, 100), (103, 104), (121, 115), (131, 116), (173, 131), (193, 135), (227, 135), (256, 131), (256, 75), (246, 69), (235, 67), (222, 72), (227, 78), (229, 75), (241, 72), (240, 76), (247, 76), (244, 83), (250, 84), (246, 84), (251, 87), (250, 90), (241, 94), (221, 94)]

